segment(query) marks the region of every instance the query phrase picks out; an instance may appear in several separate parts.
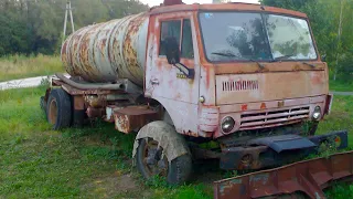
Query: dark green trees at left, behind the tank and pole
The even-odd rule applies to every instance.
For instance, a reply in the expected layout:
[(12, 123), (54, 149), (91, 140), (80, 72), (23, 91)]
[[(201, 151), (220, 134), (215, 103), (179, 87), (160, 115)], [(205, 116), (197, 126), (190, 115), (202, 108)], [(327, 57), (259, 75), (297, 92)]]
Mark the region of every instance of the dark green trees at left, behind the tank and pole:
[[(57, 53), (65, 4), (66, 0), (1, 0), (0, 56)], [(72, 7), (76, 29), (148, 9), (138, 0), (72, 0)]]

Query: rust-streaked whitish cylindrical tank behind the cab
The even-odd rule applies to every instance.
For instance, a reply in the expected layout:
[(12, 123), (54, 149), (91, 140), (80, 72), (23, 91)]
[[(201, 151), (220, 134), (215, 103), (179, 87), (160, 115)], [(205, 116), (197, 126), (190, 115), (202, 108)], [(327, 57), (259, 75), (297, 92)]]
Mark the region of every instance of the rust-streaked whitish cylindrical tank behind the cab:
[(87, 82), (128, 78), (141, 86), (148, 20), (140, 13), (77, 30), (62, 45), (66, 72)]

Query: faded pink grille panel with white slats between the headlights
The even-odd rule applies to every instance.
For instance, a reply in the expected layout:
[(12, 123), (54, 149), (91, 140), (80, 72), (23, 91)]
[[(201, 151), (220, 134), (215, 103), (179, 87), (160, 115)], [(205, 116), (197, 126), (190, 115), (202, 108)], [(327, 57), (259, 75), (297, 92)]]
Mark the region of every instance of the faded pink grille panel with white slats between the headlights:
[[(287, 98), (280, 101), (244, 103), (220, 106), (220, 127), (214, 134), (214, 138), (236, 134), (239, 130), (263, 129), (277, 126), (286, 126), (311, 121), (317, 106), (321, 108), (321, 118), (329, 113), (331, 106), (331, 95), (320, 95), (302, 98)], [(222, 119), (232, 117), (235, 126), (229, 134), (221, 129)], [(320, 118), (320, 119), (321, 119)]]

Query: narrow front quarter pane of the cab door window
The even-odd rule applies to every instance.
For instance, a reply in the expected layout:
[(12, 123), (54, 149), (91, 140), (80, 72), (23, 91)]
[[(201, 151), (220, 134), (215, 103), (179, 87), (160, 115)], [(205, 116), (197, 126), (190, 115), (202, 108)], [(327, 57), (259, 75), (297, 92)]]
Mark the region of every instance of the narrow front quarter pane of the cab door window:
[(181, 57), (193, 59), (194, 49), (192, 44), (191, 23), (189, 19), (183, 20), (183, 40), (181, 44)]

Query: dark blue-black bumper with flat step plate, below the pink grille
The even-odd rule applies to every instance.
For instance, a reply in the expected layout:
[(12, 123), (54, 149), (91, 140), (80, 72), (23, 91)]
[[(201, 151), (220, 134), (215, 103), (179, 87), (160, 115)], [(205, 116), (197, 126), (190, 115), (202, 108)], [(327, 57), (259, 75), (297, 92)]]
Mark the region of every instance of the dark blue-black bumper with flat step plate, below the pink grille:
[(318, 153), (325, 143), (330, 144), (331, 148), (346, 148), (347, 132), (333, 132), (311, 137), (284, 135), (255, 138), (247, 142), (247, 147), (223, 149), (220, 167), (226, 170), (246, 170), (278, 166)]

